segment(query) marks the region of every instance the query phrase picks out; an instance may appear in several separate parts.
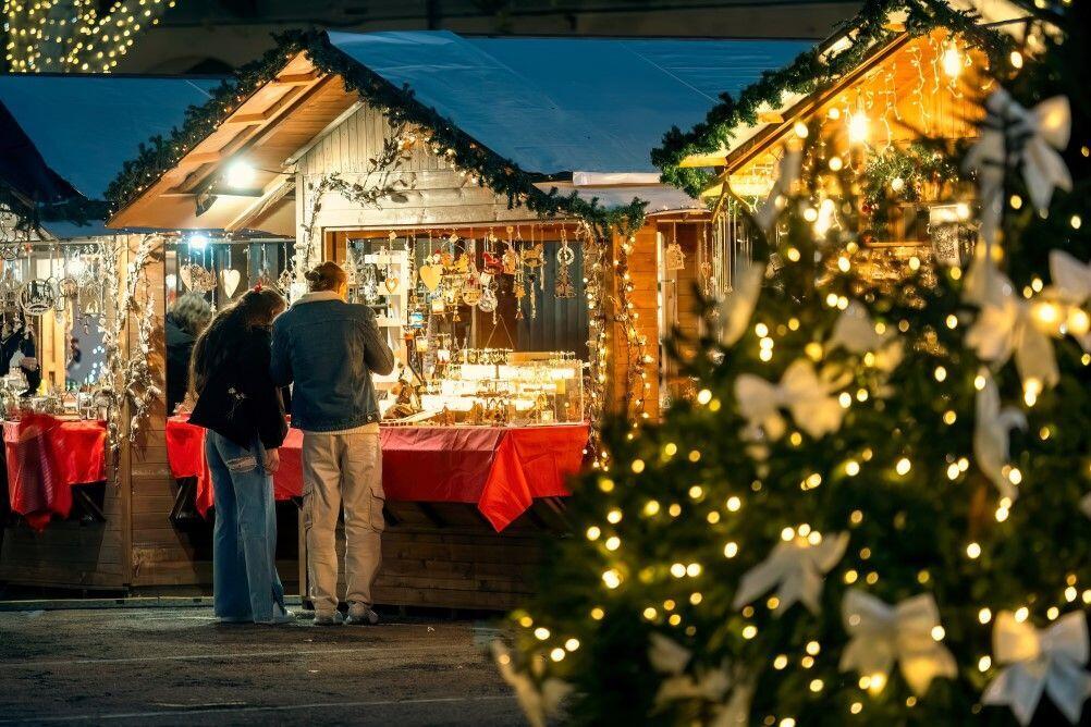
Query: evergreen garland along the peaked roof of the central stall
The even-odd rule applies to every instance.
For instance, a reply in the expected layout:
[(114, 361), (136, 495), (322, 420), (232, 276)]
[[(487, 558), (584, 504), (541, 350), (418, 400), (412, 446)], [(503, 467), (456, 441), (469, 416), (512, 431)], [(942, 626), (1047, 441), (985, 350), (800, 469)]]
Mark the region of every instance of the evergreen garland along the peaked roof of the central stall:
[(357, 92), (362, 101), (384, 113), (393, 125), (408, 123), (422, 128), (429, 144), (440, 147), (443, 156), (460, 169), (472, 172), (478, 184), (506, 196), (508, 208), (524, 206), (542, 218), (578, 218), (594, 225), (600, 233), (611, 229), (630, 232), (643, 225), (647, 203), (635, 197), (628, 205), (607, 208), (597, 198), (587, 201), (575, 192), (563, 195), (556, 187), (549, 192), (539, 190), (535, 186), (536, 181), (541, 181), (539, 177), (482, 146), (452, 120), (419, 101), (408, 86), (395, 86), (343, 53), (325, 33), (293, 32), (276, 36), (276, 40), (277, 47), (241, 69), (235, 83), (220, 86), (207, 104), (187, 111), (181, 126), (169, 136), (154, 136), (141, 145), (139, 156), (127, 162), (110, 183), (107, 197), (119, 208), (135, 199), (302, 51), (319, 71), (339, 75), (349, 92)]

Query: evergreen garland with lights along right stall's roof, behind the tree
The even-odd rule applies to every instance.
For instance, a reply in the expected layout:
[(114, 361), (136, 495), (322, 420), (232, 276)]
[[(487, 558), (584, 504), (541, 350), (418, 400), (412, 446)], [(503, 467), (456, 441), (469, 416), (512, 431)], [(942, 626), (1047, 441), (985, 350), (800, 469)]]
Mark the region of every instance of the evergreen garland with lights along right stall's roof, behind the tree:
[(975, 13), (955, 10), (944, 0), (866, 0), (860, 13), (842, 23), (834, 36), (848, 36), (852, 40), (844, 50), (831, 52), (829, 44), (806, 50), (789, 65), (764, 72), (738, 99), (721, 94), (720, 104), (692, 130), (683, 132), (674, 126), (668, 131), (662, 146), (651, 153), (652, 163), (663, 170), (663, 182), (698, 196), (711, 183), (712, 172), (680, 167), (683, 159), (730, 148), (734, 130), (757, 124), (763, 110), (779, 109), (786, 93), (811, 95), (859, 68), (877, 48), (901, 33), (891, 27), (891, 14), (898, 13), (904, 13), (904, 32), (910, 36), (947, 29), (982, 50), (992, 68), (1000, 68), (1012, 48), (1006, 35), (981, 25)]

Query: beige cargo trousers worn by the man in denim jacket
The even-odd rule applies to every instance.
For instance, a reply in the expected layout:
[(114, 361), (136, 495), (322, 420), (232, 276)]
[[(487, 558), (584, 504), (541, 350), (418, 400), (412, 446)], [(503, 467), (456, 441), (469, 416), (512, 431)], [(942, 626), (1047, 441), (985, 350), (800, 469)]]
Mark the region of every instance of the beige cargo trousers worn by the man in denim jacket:
[(303, 433), (303, 529), (314, 610), (337, 609), (337, 517), (345, 507), (346, 601), (372, 605), (382, 561), (383, 457), (379, 425), (349, 433)]

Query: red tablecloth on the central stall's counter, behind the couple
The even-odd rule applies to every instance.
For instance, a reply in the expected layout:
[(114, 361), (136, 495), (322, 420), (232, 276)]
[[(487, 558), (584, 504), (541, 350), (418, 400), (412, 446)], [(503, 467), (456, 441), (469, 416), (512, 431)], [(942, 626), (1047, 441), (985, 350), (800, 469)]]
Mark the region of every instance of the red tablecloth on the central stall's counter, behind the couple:
[[(497, 531), (536, 497), (568, 494), (565, 477), (579, 471), (587, 425), (532, 427), (391, 426), (380, 429), (383, 489), (388, 500), (475, 502)], [(277, 499), (303, 492), (303, 435), (290, 429), (273, 478)], [(203, 456), (204, 429), (181, 417), (167, 422), (167, 460), (176, 477), (197, 478), (197, 509), (213, 504)]]

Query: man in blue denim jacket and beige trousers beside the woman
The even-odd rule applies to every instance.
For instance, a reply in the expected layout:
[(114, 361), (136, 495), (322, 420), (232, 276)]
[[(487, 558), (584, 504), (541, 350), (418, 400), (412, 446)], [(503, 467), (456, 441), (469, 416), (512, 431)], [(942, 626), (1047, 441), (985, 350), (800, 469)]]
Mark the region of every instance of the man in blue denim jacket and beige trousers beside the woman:
[(375, 623), (371, 585), (382, 559), (382, 452), (372, 372), (389, 374), (394, 353), (365, 305), (345, 302), (345, 271), (307, 272), (311, 292), (273, 325), (273, 380), (293, 384), (291, 424), (303, 431), (303, 528), (314, 623), (341, 622), (335, 531), (345, 508), (349, 623)]

